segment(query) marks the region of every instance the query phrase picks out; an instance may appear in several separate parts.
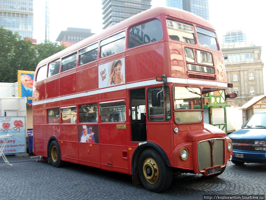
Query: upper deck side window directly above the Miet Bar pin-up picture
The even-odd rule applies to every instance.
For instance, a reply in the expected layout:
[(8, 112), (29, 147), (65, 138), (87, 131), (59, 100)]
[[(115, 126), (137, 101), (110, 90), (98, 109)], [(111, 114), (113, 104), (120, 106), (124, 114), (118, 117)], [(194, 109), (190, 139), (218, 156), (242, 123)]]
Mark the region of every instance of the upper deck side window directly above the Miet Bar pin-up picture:
[(125, 32), (118, 33), (101, 41), (101, 58), (119, 53), (125, 48)]

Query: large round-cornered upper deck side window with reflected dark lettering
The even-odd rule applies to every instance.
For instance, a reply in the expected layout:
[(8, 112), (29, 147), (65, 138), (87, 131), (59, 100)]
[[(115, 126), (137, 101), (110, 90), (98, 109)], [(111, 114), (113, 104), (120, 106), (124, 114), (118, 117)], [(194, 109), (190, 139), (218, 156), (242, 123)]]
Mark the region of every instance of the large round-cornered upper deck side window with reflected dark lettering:
[(161, 22), (156, 19), (129, 30), (128, 48), (155, 42), (163, 38)]

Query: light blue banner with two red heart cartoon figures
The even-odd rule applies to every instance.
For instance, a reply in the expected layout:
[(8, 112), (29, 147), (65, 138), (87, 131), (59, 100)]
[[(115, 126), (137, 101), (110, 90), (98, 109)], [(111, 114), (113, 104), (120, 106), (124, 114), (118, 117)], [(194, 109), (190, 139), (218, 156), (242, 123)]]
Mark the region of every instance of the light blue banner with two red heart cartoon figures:
[[(13, 135), (7, 138), (4, 154), (16, 154), (26, 152), (26, 127), (25, 117), (0, 117), (0, 136)], [(0, 146), (4, 143), (0, 139)]]

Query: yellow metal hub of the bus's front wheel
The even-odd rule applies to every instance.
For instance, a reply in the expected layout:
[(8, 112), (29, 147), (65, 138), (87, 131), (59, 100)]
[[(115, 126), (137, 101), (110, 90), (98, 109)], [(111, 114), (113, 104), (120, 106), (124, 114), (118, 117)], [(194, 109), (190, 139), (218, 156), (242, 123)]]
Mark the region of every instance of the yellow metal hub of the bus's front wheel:
[(143, 162), (142, 172), (144, 177), (150, 184), (157, 183), (159, 179), (159, 168), (155, 160), (153, 160), (152, 158), (147, 158)]

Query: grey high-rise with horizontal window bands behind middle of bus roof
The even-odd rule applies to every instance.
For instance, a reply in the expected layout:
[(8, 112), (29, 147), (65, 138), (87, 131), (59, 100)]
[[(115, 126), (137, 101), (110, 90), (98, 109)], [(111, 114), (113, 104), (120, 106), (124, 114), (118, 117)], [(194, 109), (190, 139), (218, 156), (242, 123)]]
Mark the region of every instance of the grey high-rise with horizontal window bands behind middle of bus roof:
[(102, 0), (103, 29), (150, 9), (151, 0)]

